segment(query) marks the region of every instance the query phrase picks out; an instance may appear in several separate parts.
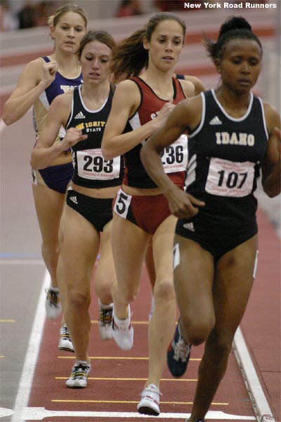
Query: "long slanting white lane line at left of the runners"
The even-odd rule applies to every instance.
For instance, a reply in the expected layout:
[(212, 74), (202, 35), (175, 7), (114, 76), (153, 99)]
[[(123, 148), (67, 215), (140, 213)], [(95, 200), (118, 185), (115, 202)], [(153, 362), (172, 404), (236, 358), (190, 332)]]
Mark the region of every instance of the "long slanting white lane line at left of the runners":
[[(11, 422), (23, 422), (25, 421), (24, 409), (28, 405), (30, 397), (30, 391), (32, 388), (32, 381), (34, 376), (34, 369), (37, 364), (37, 357), (39, 354), (39, 347), (41, 343), (41, 337), (43, 333), (44, 321), (45, 321), (45, 288), (51, 283), (50, 275), (46, 271), (44, 281), (42, 283), (41, 292), (39, 295), (39, 301), (37, 309), (34, 315), (34, 322), (32, 331), (30, 334), (30, 341), (28, 343), (27, 354), (25, 355), (25, 363), (22, 369), (22, 376), (20, 378), (20, 384), (18, 387), (18, 393), (15, 397), (15, 407)], [(36, 419), (35, 419), (36, 420)]]

